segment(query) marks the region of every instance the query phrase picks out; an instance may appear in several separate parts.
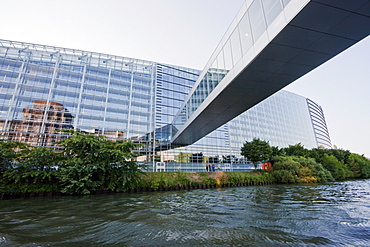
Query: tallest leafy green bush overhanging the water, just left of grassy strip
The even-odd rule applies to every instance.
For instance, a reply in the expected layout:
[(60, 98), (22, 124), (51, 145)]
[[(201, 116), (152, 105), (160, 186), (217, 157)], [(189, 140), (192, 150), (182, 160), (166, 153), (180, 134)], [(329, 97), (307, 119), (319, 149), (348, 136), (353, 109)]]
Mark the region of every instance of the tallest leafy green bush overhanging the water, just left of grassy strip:
[(59, 142), (62, 192), (89, 194), (97, 189), (125, 191), (140, 180), (140, 167), (132, 161), (133, 142), (106, 140), (95, 136), (63, 131), (71, 137)]

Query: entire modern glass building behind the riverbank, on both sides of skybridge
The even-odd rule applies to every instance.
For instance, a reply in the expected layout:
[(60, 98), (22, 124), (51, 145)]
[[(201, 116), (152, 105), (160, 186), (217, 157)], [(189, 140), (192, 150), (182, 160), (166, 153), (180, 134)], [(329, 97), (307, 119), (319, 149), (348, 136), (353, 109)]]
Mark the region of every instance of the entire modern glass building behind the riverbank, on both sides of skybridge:
[[(0, 40), (0, 134), (2, 139), (53, 146), (61, 129), (144, 144), (138, 162), (153, 169), (246, 169), (245, 141), (267, 140), (285, 147), (331, 147), (321, 107), (281, 91), (196, 143), (170, 142), (175, 116), (201, 71), (82, 50)], [(226, 73), (209, 71), (215, 84)], [(204, 84), (212, 90), (212, 83)], [(199, 86), (198, 86), (199, 87)], [(195, 97), (193, 94), (192, 97)]]

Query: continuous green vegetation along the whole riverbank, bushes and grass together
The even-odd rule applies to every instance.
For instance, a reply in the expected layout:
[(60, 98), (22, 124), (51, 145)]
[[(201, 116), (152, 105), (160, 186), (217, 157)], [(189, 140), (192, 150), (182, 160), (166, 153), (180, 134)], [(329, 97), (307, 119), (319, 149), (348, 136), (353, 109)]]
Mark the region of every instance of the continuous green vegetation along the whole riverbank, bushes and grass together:
[(261, 154), (272, 162), (271, 171), (142, 172), (133, 161), (134, 143), (64, 132), (70, 137), (53, 149), (0, 140), (0, 198), (370, 178), (370, 160), (364, 156), (338, 149), (307, 150), (300, 144)]

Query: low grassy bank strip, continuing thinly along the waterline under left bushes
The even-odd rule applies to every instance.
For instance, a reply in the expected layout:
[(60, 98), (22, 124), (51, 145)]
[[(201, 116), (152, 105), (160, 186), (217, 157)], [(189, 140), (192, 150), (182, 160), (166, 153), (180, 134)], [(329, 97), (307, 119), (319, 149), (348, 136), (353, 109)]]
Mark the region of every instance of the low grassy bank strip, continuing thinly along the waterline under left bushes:
[[(148, 172), (141, 174), (139, 182), (133, 183), (126, 193), (155, 192), (170, 190), (209, 189), (221, 187), (241, 187), (267, 185), (276, 183), (274, 177), (266, 171), (252, 172)], [(97, 189), (89, 194), (117, 193), (109, 189)], [(52, 191), (2, 192), (2, 199), (53, 197), (66, 195), (81, 195), (62, 193), (59, 189)]]

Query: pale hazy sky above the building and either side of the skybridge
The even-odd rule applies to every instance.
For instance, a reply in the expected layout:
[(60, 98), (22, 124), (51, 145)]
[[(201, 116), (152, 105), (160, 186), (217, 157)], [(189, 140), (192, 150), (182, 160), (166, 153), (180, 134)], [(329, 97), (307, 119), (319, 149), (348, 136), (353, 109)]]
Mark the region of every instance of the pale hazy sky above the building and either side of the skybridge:
[[(244, 0), (0, 0), (0, 39), (203, 69)], [(285, 88), (333, 145), (370, 157), (370, 37)]]

